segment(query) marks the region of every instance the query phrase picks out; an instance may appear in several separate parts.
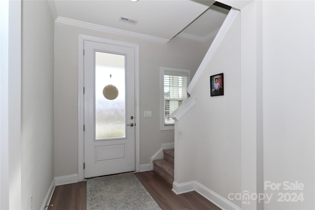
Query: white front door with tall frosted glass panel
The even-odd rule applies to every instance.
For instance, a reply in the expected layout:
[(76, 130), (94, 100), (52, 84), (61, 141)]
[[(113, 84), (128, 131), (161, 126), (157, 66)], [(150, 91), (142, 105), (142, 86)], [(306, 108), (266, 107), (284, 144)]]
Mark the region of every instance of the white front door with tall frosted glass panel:
[(84, 41), (84, 177), (135, 170), (134, 48)]

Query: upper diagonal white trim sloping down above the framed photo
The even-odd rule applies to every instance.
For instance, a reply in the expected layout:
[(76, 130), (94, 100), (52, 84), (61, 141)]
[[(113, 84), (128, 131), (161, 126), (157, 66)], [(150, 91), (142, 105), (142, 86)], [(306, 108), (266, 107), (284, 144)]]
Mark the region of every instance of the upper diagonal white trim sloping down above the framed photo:
[(212, 57), (214, 56), (214, 54), (216, 53), (218, 47), (221, 44), (221, 41), (223, 40), (225, 34), (227, 33), (227, 31), (230, 29), (231, 25), (234, 22), (234, 19), (236, 18), (236, 16), (240, 13), (239, 10), (236, 9), (231, 9), (229, 11), (229, 13), (227, 14), (220, 30), (218, 31), (217, 36), (215, 37), (215, 39), (213, 40), (208, 52), (206, 53), (204, 59), (201, 61), (195, 75), (193, 76), (188, 88), (187, 88), (187, 92), (191, 93), (191, 91), (193, 90), (194, 86), (197, 84), (199, 78), (201, 77), (203, 71), (207, 68), (208, 63), (210, 62), (210, 60), (212, 59)]

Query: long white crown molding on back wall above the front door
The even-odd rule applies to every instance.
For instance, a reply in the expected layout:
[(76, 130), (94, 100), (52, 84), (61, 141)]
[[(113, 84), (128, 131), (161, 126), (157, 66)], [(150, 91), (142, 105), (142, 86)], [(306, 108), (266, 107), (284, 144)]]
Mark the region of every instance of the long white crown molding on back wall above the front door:
[(115, 33), (115, 34), (119, 34), (119, 35), (131, 36), (131, 37), (144, 39), (144, 40), (148, 40), (148, 41), (159, 42), (159, 43), (167, 43), (169, 41), (168, 39), (163, 39), (163, 38), (159, 38), (156, 36), (150, 36), (150, 35), (145, 35), (145, 34), (126, 31), (126, 30), (114, 29), (114, 28), (110, 28), (110, 27), (105, 27), (105, 26), (101, 26), (101, 25), (97, 25), (97, 24), (87, 23), (87, 22), (73, 20), (73, 19), (69, 19), (69, 18), (63, 18), (63, 17), (58, 17), (55, 22), (67, 24), (70, 26), (82, 27), (82, 28), (86, 28), (86, 29), (99, 30), (102, 32), (107, 32), (107, 33)]

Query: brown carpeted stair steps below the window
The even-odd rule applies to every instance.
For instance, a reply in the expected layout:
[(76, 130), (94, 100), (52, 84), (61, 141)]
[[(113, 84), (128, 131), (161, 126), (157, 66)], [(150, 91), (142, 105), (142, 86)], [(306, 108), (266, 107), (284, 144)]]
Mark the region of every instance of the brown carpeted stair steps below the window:
[(153, 161), (153, 170), (168, 183), (174, 181), (174, 149), (163, 150), (164, 159)]

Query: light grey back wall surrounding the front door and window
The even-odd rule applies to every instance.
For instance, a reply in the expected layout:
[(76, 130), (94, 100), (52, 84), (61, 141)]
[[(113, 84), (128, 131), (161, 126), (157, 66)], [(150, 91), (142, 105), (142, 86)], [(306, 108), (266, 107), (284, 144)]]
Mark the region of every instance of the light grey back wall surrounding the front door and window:
[[(159, 130), (159, 66), (198, 68), (210, 42), (174, 38), (167, 44), (55, 23), (55, 177), (78, 173), (78, 34), (122, 40), (140, 46), (140, 164), (162, 143), (174, 141), (174, 131)], [(152, 111), (152, 118), (144, 118)]]

